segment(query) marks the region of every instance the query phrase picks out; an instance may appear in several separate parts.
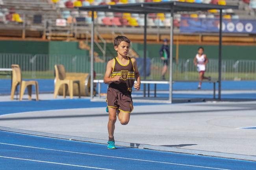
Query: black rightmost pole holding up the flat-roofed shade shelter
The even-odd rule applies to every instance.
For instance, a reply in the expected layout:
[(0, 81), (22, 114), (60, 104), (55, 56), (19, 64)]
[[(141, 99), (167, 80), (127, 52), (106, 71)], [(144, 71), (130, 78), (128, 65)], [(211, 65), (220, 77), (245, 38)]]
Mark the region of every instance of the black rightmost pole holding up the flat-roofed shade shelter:
[(218, 99), (221, 100), (221, 49), (222, 49), (222, 9), (219, 16), (219, 92)]

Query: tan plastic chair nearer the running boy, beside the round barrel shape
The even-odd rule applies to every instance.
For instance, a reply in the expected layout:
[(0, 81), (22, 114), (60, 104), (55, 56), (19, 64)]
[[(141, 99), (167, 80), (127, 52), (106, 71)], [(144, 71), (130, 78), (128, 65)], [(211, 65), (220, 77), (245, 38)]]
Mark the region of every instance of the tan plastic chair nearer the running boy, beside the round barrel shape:
[(69, 96), (70, 99), (73, 99), (73, 84), (76, 83), (78, 84), (78, 93), (79, 93), (79, 98), (81, 97), (80, 94), (80, 81), (79, 80), (69, 80), (66, 79), (66, 72), (65, 72), (65, 68), (63, 65), (59, 64), (59, 65), (54, 65), (54, 69), (55, 69), (55, 87), (54, 87), (54, 99), (56, 99), (59, 88), (61, 87), (61, 85), (63, 85), (63, 97), (66, 97), (66, 87), (68, 87), (69, 89)]

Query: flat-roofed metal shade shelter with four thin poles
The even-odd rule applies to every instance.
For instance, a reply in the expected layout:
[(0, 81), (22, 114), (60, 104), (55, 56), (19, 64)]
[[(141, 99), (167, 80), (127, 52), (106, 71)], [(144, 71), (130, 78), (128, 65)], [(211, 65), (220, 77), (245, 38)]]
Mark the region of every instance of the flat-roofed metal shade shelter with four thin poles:
[[(218, 99), (221, 100), (221, 50), (222, 50), (222, 13), (223, 9), (238, 9), (234, 5), (214, 5), (214, 4), (199, 4), (187, 2), (145, 2), (145, 3), (132, 3), (132, 4), (117, 4), (117, 5), (92, 5), (79, 7), (81, 11), (92, 11), (92, 24), (91, 24), (91, 84), (93, 84), (93, 53), (94, 53), (94, 12), (116, 12), (116, 13), (139, 13), (144, 14), (144, 80), (146, 80), (146, 51), (147, 51), (147, 14), (148, 13), (171, 13), (171, 29), (170, 29), (170, 77), (169, 77), (169, 100), (172, 103), (173, 97), (173, 79), (172, 79), (172, 58), (173, 58), (173, 15), (180, 11), (207, 11), (210, 9), (219, 9), (219, 93)], [(144, 84), (144, 97), (145, 97)], [(91, 86), (93, 91), (93, 86)], [(93, 93), (91, 93), (91, 100)]]

